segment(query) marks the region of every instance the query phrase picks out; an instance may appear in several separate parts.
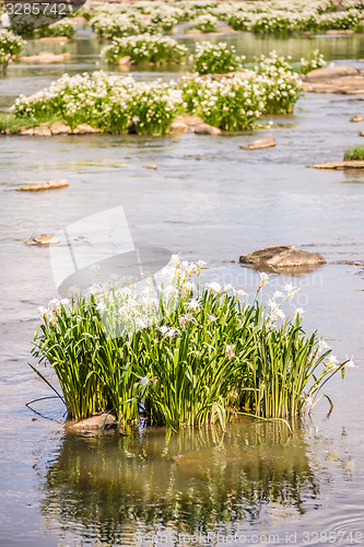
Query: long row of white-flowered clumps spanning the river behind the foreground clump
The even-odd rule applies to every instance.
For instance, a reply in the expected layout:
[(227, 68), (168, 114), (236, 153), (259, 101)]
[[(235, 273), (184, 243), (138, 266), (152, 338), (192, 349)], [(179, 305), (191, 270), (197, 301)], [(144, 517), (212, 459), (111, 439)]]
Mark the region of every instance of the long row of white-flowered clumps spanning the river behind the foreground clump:
[[(179, 46), (178, 46), (179, 47)], [(210, 46), (201, 45), (202, 49)], [(163, 135), (183, 113), (198, 114), (225, 130), (248, 129), (262, 114), (291, 113), (301, 95), (296, 72), (275, 53), (255, 70), (242, 69), (220, 81), (191, 75), (179, 82), (137, 82), (102, 71), (62, 78), (32, 96), (20, 96), (11, 113), (17, 120), (87, 123), (110, 132)]]

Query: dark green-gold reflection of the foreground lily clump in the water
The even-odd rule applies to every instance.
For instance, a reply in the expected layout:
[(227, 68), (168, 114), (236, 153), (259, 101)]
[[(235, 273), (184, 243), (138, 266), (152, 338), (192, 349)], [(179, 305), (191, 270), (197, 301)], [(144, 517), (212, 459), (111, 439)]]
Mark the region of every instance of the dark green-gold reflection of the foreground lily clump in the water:
[(269, 503), (302, 514), (318, 497), (300, 424), (290, 432), (284, 423), (246, 421), (227, 433), (155, 428), (130, 437), (67, 434), (44, 489), (50, 527), (51, 515), (113, 544), (156, 525), (227, 529), (256, 522)]

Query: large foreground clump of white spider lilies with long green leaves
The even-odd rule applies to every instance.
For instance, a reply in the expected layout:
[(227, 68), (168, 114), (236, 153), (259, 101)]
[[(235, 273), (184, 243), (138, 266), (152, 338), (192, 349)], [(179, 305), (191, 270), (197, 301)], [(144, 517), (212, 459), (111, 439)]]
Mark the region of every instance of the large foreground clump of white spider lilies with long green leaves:
[(203, 266), (174, 256), (165, 283), (137, 290), (113, 279), (39, 309), (33, 354), (55, 371), (70, 418), (109, 411), (120, 424), (143, 417), (173, 429), (225, 428), (236, 414), (284, 419), (309, 411), (322, 385), (353, 365), (305, 334), (301, 310), (285, 316), (292, 286), (265, 306), (262, 275), (249, 305), (231, 286), (201, 288)]

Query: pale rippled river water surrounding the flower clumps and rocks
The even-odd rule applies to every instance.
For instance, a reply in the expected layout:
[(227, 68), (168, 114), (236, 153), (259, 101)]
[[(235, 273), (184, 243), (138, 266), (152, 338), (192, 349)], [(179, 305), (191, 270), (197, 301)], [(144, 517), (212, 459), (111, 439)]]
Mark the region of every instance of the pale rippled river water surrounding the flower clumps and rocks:
[[(230, 39), (247, 58), (275, 48), (297, 60), (316, 47), (353, 67), (364, 57), (363, 36)], [(70, 49), (66, 66), (10, 67), (0, 108), (64, 71), (95, 69), (99, 44), (87, 33)], [(136, 71), (156, 75), (176, 74)], [(273, 128), (259, 132), (274, 135), (277, 148), (253, 152), (238, 147), (258, 132), (1, 136), (1, 547), (163, 545), (144, 537), (156, 533), (168, 534), (165, 545), (364, 544), (364, 272), (345, 264), (364, 261), (364, 174), (306, 167), (340, 160), (361, 142), (364, 125), (349, 121), (364, 116), (357, 98), (306, 94), (294, 116), (274, 117)], [(56, 178), (70, 187), (13, 191)], [(359, 368), (327, 385), (331, 415), (322, 400), (293, 433), (238, 421), (225, 434), (153, 429), (90, 439), (25, 407), (52, 394), (27, 362), (37, 306), (56, 287), (49, 251), (23, 241), (115, 207), (124, 208), (136, 246), (204, 259), (209, 279), (250, 293), (258, 274), (238, 265), (240, 254), (274, 244), (321, 253), (327, 265), (293, 278), (272, 274), (268, 290), (301, 287), (305, 327), (324, 333), (340, 359), (353, 356)], [(56, 399), (34, 408), (55, 420), (63, 411)], [(177, 532), (186, 534), (179, 544)]]

